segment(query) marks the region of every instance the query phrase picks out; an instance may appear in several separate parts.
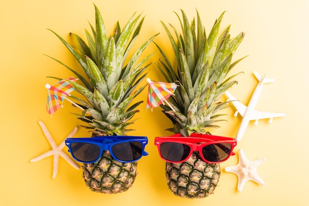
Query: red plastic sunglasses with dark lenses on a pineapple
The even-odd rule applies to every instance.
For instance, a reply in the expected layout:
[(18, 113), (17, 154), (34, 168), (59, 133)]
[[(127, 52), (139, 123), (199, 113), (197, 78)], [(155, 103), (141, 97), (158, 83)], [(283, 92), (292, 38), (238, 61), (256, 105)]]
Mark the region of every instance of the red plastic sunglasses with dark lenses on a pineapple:
[(170, 137), (155, 137), (154, 144), (158, 147), (160, 157), (166, 162), (185, 162), (193, 151), (199, 151), (204, 162), (214, 164), (235, 155), (233, 148), (237, 141), (234, 138), (213, 135), (192, 134), (190, 137), (182, 137), (176, 134)]

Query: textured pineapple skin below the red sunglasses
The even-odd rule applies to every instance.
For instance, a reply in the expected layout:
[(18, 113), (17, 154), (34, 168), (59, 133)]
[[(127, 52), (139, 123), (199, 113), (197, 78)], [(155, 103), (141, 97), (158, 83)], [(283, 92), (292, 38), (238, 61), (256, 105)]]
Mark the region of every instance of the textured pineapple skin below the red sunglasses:
[(166, 162), (168, 188), (182, 198), (205, 198), (214, 193), (220, 177), (220, 164), (204, 162), (198, 152), (183, 163)]

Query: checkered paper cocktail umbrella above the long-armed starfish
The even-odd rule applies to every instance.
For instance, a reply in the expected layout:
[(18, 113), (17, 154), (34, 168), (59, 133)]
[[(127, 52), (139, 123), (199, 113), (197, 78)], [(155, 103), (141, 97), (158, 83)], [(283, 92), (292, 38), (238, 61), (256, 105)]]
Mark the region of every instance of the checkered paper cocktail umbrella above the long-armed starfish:
[(47, 88), (46, 108), (48, 114), (52, 115), (55, 113), (59, 107), (62, 106), (62, 103), (65, 99), (83, 110), (83, 108), (67, 98), (67, 95), (70, 96), (70, 93), (74, 90), (74, 87), (67, 80), (76, 81), (77, 79), (70, 77), (68, 79), (63, 79), (53, 85), (45, 85)]

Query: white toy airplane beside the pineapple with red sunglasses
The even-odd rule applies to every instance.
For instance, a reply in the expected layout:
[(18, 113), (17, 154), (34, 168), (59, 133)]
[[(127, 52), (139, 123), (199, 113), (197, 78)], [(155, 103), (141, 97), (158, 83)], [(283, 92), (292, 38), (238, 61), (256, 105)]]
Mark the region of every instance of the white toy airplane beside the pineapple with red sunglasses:
[(258, 124), (259, 119), (268, 119), (270, 118), (269, 123), (272, 122), (272, 118), (274, 117), (282, 117), (282, 116), (286, 116), (286, 113), (270, 113), (270, 112), (261, 112), (261, 111), (257, 111), (255, 110), (255, 105), (258, 102), (258, 99), (261, 95), (262, 92), (262, 88), (263, 88), (263, 84), (264, 83), (269, 83), (269, 82), (273, 82), (274, 79), (266, 79), (264, 75), (264, 77), (262, 77), (260, 74), (258, 74), (258, 72), (254, 71), (254, 75), (256, 76), (256, 78), (259, 80), (258, 85), (256, 86), (251, 99), (248, 103), (248, 106), (245, 106), (244, 104), (240, 103), (239, 101), (236, 100), (236, 98), (234, 98), (229, 92), (226, 92), (225, 94), (228, 96), (229, 100), (232, 101), (232, 104), (236, 107), (236, 112), (234, 114), (234, 116), (237, 116), (237, 114), (239, 113), (242, 116), (242, 120), (236, 135), (236, 140), (239, 141), (245, 131), (246, 128), (249, 124), (249, 121), (251, 120), (255, 120), (255, 124)]

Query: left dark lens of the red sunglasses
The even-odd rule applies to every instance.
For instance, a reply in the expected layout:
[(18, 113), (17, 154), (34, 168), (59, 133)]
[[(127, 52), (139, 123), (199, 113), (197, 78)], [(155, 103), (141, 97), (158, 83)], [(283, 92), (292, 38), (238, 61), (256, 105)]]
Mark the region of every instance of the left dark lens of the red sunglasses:
[(190, 146), (182, 143), (163, 142), (160, 144), (161, 156), (167, 161), (183, 161), (189, 156), (190, 151)]

